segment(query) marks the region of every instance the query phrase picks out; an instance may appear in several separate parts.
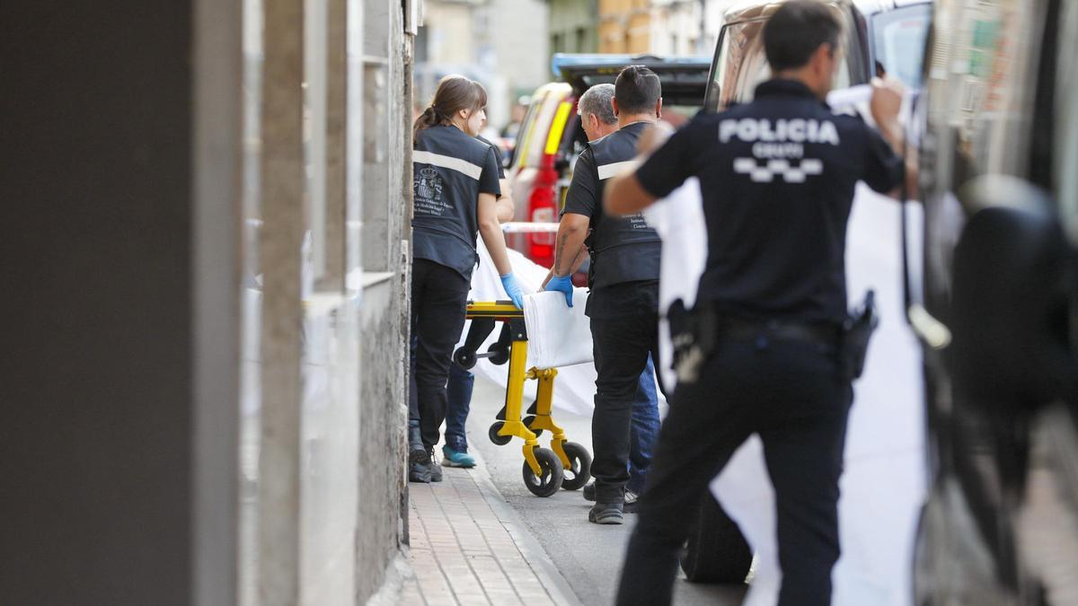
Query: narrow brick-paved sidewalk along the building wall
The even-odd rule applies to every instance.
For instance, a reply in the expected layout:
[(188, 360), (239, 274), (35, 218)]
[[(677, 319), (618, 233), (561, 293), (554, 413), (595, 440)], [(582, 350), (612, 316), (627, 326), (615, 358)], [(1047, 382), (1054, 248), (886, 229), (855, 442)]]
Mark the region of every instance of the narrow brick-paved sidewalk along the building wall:
[(482, 460), (442, 469), (442, 482), (409, 484), (414, 576), (400, 606), (580, 604)]

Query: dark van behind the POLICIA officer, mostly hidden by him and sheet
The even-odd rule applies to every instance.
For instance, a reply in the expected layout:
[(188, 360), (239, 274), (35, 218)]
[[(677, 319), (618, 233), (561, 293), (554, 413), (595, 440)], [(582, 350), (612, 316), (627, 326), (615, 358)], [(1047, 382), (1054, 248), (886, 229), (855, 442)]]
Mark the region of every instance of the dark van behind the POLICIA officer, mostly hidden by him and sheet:
[[(892, 74), (910, 87), (921, 83), (925, 36), (931, 17), (927, 0), (830, 0), (844, 23), (843, 58), (835, 88), (867, 84)], [(757, 84), (771, 77), (763, 26), (782, 0), (752, 0), (729, 9), (708, 74), (704, 111), (751, 100)], [(896, 228), (897, 230), (897, 228)], [(737, 525), (714, 499), (701, 504), (700, 520), (681, 559), (694, 582), (742, 582), (752, 554)]]

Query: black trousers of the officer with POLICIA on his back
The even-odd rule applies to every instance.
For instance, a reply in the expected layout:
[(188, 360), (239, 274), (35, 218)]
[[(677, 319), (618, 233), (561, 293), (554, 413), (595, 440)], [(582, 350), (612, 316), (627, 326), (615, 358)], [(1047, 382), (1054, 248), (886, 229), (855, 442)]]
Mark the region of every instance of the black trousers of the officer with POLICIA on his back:
[(618, 604), (671, 603), (678, 553), (708, 482), (759, 433), (775, 487), (780, 606), (826, 606), (839, 559), (839, 476), (853, 391), (833, 347), (720, 341), (663, 422)]

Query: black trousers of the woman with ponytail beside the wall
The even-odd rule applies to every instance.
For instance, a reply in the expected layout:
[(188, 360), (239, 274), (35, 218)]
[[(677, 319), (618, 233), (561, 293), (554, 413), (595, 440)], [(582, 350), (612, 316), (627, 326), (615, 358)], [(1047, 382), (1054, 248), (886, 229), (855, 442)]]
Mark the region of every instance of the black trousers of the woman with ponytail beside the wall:
[(440, 263), (416, 259), (412, 265), (413, 369), (409, 408), (412, 416), (418, 415), (427, 450), (438, 443), (445, 421), (445, 384), (453, 346), (465, 327), (469, 287), (460, 273)]

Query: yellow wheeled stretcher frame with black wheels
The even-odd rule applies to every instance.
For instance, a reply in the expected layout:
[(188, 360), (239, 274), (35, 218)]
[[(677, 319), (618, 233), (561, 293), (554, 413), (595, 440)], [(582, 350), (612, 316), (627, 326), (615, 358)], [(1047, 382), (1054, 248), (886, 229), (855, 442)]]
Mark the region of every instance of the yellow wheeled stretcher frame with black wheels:
[[(522, 474), (531, 494), (549, 497), (559, 488), (582, 488), (591, 478), (592, 456), (584, 446), (566, 440), (565, 431), (551, 414), (557, 369), (527, 368), (528, 335), (524, 312), (511, 301), (469, 301), (466, 317), (472, 321), (471, 327), (464, 345), (454, 353), (454, 361), (465, 370), (474, 367), (480, 358), (495, 364), (509, 363), (506, 404), (487, 432), (490, 441), (502, 446), (513, 438), (524, 440)], [(498, 341), (485, 353), (479, 353), (479, 347), (499, 322), (502, 328)], [(528, 380), (539, 383), (538, 397), (525, 411), (524, 382)], [(539, 446), (538, 438), (543, 431), (550, 432), (549, 450)]]

